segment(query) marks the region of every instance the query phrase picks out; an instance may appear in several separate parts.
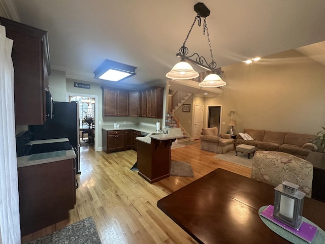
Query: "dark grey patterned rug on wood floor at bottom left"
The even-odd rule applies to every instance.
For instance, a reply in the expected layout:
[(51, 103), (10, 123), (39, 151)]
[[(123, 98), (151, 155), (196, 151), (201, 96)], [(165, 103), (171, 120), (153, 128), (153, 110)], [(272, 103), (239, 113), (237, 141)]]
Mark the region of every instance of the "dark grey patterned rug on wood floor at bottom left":
[(27, 244), (65, 244), (65, 243), (92, 243), (100, 244), (101, 239), (98, 235), (95, 222), (92, 217), (78, 221), (66, 226), (61, 230), (45, 235), (37, 240), (29, 241)]

